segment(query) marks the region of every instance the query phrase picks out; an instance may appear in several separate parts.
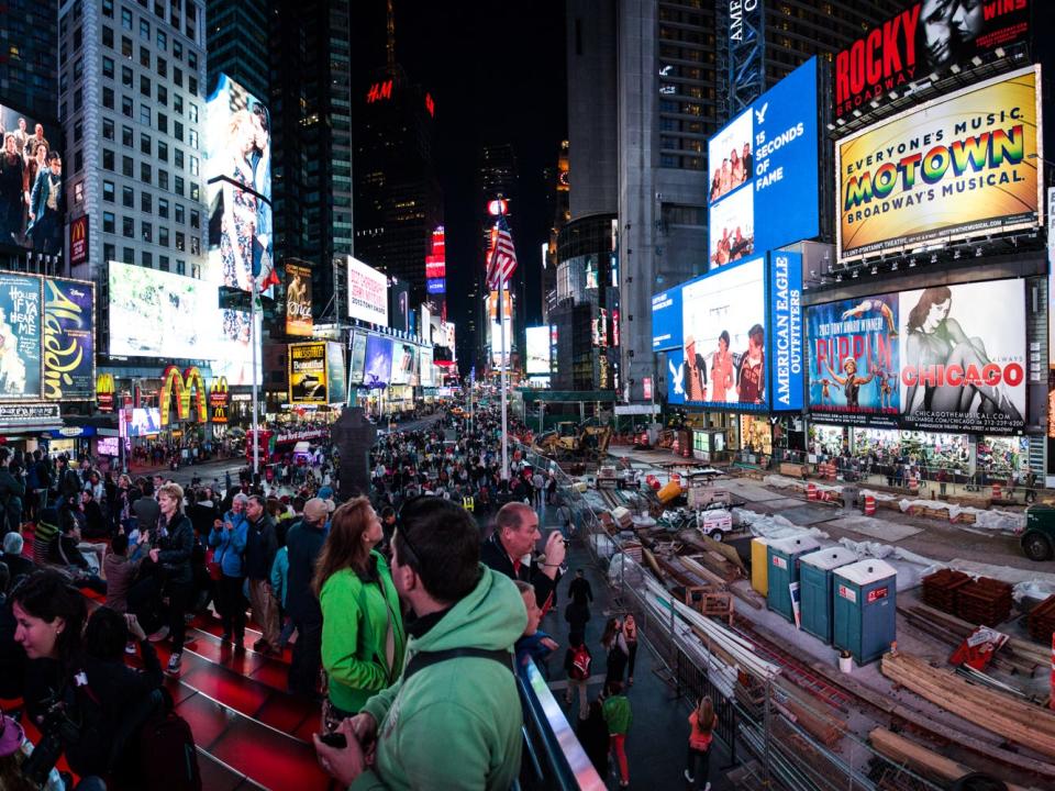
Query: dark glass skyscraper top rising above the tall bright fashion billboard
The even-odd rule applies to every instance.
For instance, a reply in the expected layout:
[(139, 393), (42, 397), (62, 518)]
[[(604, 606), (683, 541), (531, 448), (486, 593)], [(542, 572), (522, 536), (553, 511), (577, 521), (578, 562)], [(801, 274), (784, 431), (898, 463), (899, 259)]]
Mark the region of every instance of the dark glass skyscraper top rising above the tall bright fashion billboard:
[(229, 75), (269, 102), (267, 0), (208, 0), (209, 85)]

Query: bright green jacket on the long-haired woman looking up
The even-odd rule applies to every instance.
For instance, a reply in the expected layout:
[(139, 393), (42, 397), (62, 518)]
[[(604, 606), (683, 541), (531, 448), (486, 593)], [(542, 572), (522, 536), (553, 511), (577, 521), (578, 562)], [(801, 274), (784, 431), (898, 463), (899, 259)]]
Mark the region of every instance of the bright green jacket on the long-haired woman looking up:
[[(322, 606), (322, 666), (330, 677), (330, 700), (338, 709), (356, 713), (375, 692), (388, 687), (403, 670), (407, 633), (388, 564), (377, 552), (380, 586), (364, 582), (352, 569), (335, 572), (319, 593)], [(387, 605), (387, 606), (386, 606)], [(364, 619), (364, 609), (366, 610)], [(388, 612), (386, 612), (386, 609)], [(386, 669), (385, 637), (389, 619), (396, 653), (391, 671)]]

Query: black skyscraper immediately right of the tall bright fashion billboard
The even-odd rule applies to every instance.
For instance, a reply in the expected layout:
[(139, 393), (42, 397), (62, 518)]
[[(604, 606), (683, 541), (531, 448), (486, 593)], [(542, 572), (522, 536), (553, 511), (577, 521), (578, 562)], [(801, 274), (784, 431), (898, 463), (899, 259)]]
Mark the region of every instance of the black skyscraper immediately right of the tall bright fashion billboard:
[(270, 16), (275, 250), (312, 265), (316, 319), (334, 316), (334, 256), (353, 253), (349, 10), (275, 0)]

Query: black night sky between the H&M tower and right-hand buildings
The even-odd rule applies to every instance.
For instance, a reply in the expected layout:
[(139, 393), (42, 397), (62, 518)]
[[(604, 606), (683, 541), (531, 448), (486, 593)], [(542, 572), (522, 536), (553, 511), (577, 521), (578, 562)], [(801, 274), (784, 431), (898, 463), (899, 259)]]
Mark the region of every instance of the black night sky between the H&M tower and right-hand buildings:
[[(378, 3), (384, 12), (384, 0)], [(567, 136), (564, 2), (396, 0), (396, 57), (436, 101), (435, 159), (447, 232), (448, 317), (458, 357), (470, 339), (468, 294), (477, 258), (476, 170), (484, 145), (512, 143), (520, 174), (514, 242), (526, 267), (528, 323), (542, 320), (541, 246), (554, 207), (544, 168)], [(384, 41), (384, 29), (380, 31)]]

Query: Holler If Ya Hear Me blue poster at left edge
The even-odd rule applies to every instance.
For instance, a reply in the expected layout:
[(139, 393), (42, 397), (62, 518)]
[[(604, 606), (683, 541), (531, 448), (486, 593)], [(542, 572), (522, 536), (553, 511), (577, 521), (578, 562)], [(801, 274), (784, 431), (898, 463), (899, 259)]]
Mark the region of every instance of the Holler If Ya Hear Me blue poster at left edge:
[(41, 279), (0, 272), (0, 400), (41, 397)]

